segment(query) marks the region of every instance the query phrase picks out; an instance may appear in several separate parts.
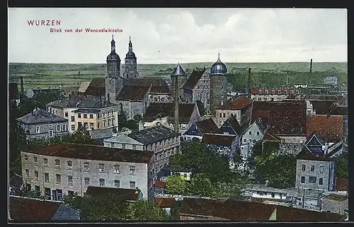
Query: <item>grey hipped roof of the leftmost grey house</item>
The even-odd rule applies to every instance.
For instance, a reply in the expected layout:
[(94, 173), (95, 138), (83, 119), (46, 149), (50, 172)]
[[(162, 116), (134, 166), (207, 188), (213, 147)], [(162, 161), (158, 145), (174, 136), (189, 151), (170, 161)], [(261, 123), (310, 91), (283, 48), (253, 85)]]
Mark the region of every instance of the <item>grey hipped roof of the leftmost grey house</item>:
[(64, 117), (53, 115), (50, 112), (38, 108), (23, 117), (18, 117), (17, 120), (23, 124), (45, 124), (68, 121)]

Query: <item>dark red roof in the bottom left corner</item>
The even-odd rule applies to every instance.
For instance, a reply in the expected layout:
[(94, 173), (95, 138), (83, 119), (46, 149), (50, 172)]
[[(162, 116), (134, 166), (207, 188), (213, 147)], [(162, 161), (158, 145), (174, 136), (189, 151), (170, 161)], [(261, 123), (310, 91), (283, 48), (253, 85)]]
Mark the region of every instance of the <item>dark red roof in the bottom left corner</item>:
[(9, 214), (13, 221), (50, 222), (59, 208), (59, 202), (9, 197)]

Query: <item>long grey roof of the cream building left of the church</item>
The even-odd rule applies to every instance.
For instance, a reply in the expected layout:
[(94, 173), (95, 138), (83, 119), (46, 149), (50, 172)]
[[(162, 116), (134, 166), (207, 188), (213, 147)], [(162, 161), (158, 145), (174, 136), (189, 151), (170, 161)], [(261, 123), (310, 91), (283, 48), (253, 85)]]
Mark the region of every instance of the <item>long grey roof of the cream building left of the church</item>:
[(100, 96), (95, 95), (71, 95), (67, 98), (61, 100), (55, 100), (52, 103), (47, 104), (48, 107), (78, 107), (78, 108), (91, 108), (91, 109), (100, 109), (104, 107), (115, 106), (114, 103), (111, 103), (107, 100), (102, 99)]

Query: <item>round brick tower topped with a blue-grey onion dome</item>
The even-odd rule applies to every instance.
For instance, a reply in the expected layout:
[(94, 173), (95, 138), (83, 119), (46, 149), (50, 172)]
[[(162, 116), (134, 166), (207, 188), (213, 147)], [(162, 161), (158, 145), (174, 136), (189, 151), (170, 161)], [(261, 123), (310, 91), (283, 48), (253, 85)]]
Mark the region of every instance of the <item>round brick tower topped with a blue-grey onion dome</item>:
[(227, 100), (226, 75), (227, 66), (220, 61), (220, 54), (218, 54), (217, 62), (210, 68), (210, 112), (212, 115), (215, 115), (215, 109)]

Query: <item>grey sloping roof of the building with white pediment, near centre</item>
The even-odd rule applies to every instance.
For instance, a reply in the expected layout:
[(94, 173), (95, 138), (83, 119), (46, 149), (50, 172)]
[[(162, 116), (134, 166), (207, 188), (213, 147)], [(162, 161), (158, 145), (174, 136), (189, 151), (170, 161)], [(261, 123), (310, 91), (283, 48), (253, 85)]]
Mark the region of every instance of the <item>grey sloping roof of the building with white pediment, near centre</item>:
[(135, 139), (136, 141), (139, 141), (142, 144), (153, 144), (158, 141), (163, 141), (165, 139), (171, 139), (175, 136), (178, 136), (178, 134), (172, 129), (169, 129), (168, 127), (159, 125), (138, 132), (132, 132), (127, 136), (132, 139)]

